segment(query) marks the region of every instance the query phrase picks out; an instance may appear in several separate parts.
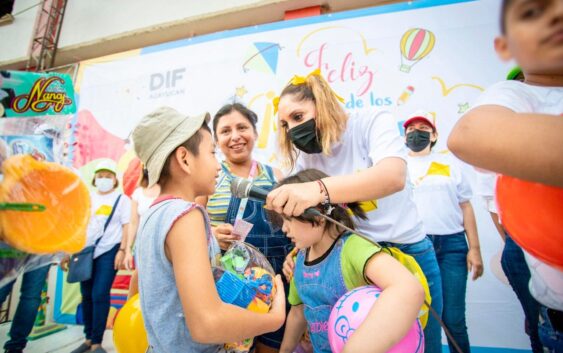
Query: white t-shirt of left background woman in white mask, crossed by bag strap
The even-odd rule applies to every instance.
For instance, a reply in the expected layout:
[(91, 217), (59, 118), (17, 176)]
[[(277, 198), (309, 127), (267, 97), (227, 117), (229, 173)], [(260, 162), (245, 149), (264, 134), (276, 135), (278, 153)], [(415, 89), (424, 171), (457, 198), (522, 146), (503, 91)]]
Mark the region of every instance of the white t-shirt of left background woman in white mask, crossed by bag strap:
[(96, 240), (102, 236), (102, 240), (96, 246), (94, 258), (108, 252), (116, 244), (121, 242), (123, 236), (123, 225), (129, 223), (131, 217), (131, 200), (126, 195), (121, 195), (117, 209), (104, 232), (104, 225), (111, 214), (115, 200), (120, 192), (114, 191), (106, 195), (100, 195), (96, 191), (90, 193), (92, 210), (90, 222), (88, 223), (86, 245), (94, 245)]

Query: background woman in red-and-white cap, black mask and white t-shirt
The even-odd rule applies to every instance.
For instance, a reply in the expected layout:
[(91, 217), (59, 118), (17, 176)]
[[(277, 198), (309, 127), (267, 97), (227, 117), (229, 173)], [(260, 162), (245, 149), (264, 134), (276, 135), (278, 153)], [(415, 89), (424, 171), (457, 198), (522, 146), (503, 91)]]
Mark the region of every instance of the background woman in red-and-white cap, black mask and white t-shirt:
[[(434, 244), (440, 265), (444, 298), (442, 319), (461, 351), (468, 353), (467, 274), (473, 271), (473, 280), (479, 278), (483, 274), (483, 260), (475, 214), (469, 201), (471, 186), (451, 154), (432, 151), (438, 141), (432, 121), (430, 113), (417, 111), (403, 124), (406, 145), (410, 149), (408, 171), (424, 230)], [(449, 338), (448, 345), (450, 352), (458, 351)]]

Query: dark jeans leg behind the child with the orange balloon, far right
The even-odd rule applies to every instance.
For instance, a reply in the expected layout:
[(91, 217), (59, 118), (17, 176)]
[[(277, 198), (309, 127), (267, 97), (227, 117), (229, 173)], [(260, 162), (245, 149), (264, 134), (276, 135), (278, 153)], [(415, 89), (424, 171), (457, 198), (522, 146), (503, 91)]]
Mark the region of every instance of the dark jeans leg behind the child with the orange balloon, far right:
[(528, 284), (530, 282), (530, 269), (526, 264), (524, 252), (506, 234), (504, 249), (500, 261), (502, 270), (508, 278), (508, 283), (512, 287), (518, 301), (524, 310), (526, 318), (526, 332), (530, 336), (530, 343), (534, 353), (543, 352), (543, 347), (538, 335), (538, 318), (540, 314), (540, 305), (530, 294)]

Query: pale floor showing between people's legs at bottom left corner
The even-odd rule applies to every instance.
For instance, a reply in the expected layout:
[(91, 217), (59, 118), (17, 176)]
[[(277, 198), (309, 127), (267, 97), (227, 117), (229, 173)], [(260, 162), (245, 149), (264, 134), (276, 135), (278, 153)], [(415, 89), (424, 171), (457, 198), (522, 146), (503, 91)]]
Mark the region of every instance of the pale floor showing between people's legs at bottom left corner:
[[(25, 353), (69, 353), (78, 347), (84, 340), (82, 333), (83, 326), (67, 325), (65, 330), (59, 331), (49, 336), (39, 338), (27, 343)], [(0, 349), (8, 340), (10, 323), (0, 325)], [(113, 331), (106, 330), (102, 347), (108, 353), (116, 353), (113, 347)], [(3, 349), (1, 350), (3, 351)]]

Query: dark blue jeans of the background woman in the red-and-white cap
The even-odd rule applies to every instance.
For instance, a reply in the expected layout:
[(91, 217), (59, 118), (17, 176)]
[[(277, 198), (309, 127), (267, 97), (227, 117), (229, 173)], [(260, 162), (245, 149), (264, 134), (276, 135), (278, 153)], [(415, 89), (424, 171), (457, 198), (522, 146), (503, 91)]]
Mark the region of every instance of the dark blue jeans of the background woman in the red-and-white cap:
[[(471, 351), (467, 324), (465, 321), (465, 292), (467, 289), (467, 252), (469, 248), (465, 232), (449, 235), (429, 235), (434, 244), (440, 275), (444, 311), (442, 320), (462, 352)], [(448, 337), (451, 353), (457, 353), (455, 346)]]

